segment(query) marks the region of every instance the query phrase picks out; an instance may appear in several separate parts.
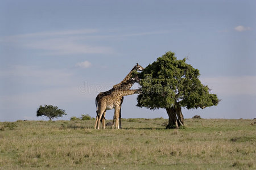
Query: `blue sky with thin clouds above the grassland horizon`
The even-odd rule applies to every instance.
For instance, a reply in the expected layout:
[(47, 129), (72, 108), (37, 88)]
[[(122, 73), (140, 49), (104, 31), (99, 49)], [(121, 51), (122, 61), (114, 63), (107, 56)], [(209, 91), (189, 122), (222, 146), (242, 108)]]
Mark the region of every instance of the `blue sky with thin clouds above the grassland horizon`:
[[(39, 105), (69, 120), (96, 116), (95, 97), (138, 62), (171, 50), (200, 70), (221, 103), (184, 117), (254, 118), (255, 1), (1, 1), (0, 121), (40, 120)], [(132, 88), (137, 88), (135, 84)], [(126, 96), (122, 117), (164, 117)], [(106, 113), (113, 118), (113, 111)]]

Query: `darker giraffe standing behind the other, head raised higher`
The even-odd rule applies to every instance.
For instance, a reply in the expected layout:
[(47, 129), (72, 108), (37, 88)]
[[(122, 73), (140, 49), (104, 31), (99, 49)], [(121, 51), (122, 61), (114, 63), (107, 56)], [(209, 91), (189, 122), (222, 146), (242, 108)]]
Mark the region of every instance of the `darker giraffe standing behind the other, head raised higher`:
[[(98, 105), (98, 101), (104, 97), (104, 96), (107, 96), (107, 95), (110, 95), (113, 91), (115, 90), (129, 90), (131, 88), (131, 86), (133, 86), (134, 83), (138, 83), (139, 82), (139, 78), (138, 76), (135, 76), (133, 78), (133, 71), (142, 71), (144, 68), (142, 66), (140, 66), (138, 63), (137, 65), (135, 65), (133, 67), (133, 69), (131, 69), (130, 73), (126, 75), (126, 77), (122, 80), (122, 82), (118, 83), (118, 84), (115, 84), (113, 86), (112, 89), (110, 89), (109, 91), (105, 91), (105, 92), (100, 92), (100, 94), (97, 95), (96, 99), (95, 99), (95, 103), (96, 103), (96, 108), (97, 105)], [(121, 104), (120, 104), (120, 112), (119, 112), (119, 125), (121, 127), (121, 105), (123, 103), (123, 97), (122, 97), (122, 100), (121, 100)], [(97, 109), (98, 110), (98, 109)], [(96, 111), (97, 112), (97, 111)], [(98, 117), (98, 113), (97, 113), (97, 117)], [(102, 119), (101, 119), (101, 122), (102, 122), (102, 126), (103, 124), (105, 124), (105, 113), (103, 114), (102, 116)], [(114, 124), (114, 120), (113, 120), (113, 124)]]

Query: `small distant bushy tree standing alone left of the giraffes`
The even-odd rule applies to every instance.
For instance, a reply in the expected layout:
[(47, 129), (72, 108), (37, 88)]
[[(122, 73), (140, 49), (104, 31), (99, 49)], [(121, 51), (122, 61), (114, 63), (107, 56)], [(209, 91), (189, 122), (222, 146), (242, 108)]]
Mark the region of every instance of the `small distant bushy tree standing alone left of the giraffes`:
[(58, 107), (53, 105), (44, 105), (44, 107), (40, 105), (40, 107), (36, 111), (36, 116), (46, 116), (49, 118), (49, 120), (57, 117), (62, 117), (63, 115), (67, 115), (65, 113), (65, 110), (58, 109)]

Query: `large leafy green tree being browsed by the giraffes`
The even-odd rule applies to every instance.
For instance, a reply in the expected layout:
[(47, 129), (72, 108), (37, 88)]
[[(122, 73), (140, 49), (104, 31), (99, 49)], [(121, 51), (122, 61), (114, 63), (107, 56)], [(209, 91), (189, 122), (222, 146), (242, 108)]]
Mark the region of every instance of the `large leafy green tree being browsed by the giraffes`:
[(184, 126), (182, 107), (203, 109), (220, 101), (217, 95), (209, 94), (208, 86), (200, 82), (199, 70), (185, 61), (185, 58), (179, 60), (174, 53), (167, 52), (138, 73), (142, 92), (137, 97), (137, 106), (166, 109), (169, 117), (167, 129)]

